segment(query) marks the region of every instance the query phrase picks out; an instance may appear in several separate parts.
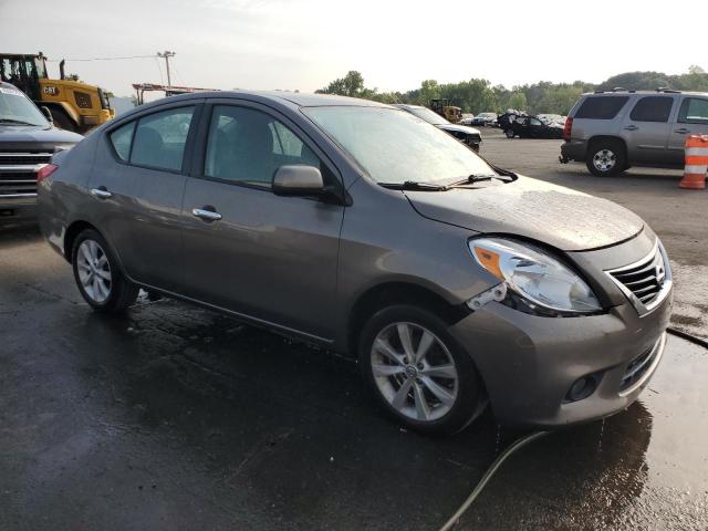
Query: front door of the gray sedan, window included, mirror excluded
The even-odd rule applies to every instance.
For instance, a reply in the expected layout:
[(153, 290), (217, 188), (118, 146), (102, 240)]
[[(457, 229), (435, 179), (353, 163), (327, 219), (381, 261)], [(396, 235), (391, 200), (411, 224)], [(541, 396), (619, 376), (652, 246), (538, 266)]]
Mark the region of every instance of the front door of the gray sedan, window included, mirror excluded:
[(185, 188), (187, 294), (331, 339), (344, 207), (275, 196), (271, 179), (281, 165), (302, 164), (319, 167), (325, 184), (339, 180), (294, 124), (270, 113), (247, 103), (211, 107), (204, 160)]

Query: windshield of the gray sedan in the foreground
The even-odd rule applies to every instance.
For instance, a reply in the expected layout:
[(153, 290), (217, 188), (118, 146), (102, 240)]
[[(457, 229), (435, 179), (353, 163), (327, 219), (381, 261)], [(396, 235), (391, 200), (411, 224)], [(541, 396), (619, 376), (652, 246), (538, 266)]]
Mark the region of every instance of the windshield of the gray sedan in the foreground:
[(303, 112), (377, 183), (452, 183), (496, 175), (459, 140), (404, 111), (305, 107)]

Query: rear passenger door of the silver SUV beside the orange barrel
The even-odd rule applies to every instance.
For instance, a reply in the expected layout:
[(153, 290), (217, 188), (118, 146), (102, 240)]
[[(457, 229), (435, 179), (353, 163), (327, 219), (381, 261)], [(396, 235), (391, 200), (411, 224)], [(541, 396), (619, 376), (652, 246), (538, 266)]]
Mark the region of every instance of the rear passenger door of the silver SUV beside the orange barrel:
[(673, 95), (639, 96), (622, 124), (631, 163), (666, 164)]

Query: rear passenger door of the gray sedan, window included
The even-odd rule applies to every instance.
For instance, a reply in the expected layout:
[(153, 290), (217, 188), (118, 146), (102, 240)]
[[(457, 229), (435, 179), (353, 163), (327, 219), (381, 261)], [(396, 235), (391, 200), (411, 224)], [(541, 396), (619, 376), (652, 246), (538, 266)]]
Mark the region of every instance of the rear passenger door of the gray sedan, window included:
[(181, 285), (180, 212), (190, 137), (200, 106), (160, 106), (108, 133), (117, 165), (90, 184), (98, 227), (128, 275), (176, 291)]

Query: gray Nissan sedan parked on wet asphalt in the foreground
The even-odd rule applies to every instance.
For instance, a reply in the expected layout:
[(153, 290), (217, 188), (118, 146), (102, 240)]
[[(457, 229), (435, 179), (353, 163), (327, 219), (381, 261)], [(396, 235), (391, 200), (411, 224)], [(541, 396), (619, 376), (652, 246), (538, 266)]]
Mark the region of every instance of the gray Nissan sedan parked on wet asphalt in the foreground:
[(373, 102), (160, 100), (55, 155), (39, 207), (94, 310), (145, 288), (347, 353), (420, 431), (487, 404), (504, 425), (601, 418), (662, 360), (671, 273), (642, 219)]

